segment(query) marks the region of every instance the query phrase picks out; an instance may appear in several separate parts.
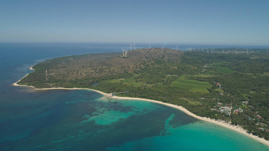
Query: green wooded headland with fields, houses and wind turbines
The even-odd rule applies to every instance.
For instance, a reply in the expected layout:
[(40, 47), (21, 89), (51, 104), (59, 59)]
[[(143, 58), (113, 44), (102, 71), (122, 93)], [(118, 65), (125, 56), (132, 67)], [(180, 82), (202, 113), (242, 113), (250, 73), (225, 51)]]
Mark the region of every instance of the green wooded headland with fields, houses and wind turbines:
[(120, 52), (59, 57), (33, 66), (19, 84), (91, 88), (177, 104), (268, 140), (269, 51), (234, 50), (152, 48), (128, 51), (127, 57)]

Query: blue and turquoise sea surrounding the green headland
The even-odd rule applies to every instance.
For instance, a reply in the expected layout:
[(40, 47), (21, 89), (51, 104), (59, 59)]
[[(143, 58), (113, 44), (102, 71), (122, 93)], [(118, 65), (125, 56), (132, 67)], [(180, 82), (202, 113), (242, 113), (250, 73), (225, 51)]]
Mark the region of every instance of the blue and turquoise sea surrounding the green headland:
[(102, 95), (86, 90), (34, 91), (11, 86), (40, 61), (120, 52), (127, 47), (0, 44), (0, 150), (269, 150), (242, 134), (159, 104), (134, 100), (109, 103)]

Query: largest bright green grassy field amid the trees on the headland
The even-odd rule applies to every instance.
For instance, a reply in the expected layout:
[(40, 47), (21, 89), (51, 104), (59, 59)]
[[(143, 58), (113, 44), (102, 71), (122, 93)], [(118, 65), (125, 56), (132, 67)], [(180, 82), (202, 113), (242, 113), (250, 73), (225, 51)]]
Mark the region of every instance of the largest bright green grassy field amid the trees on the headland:
[(200, 82), (196, 80), (177, 79), (172, 82), (172, 86), (177, 88), (189, 89), (191, 92), (209, 93), (207, 88), (211, 85), (207, 82)]

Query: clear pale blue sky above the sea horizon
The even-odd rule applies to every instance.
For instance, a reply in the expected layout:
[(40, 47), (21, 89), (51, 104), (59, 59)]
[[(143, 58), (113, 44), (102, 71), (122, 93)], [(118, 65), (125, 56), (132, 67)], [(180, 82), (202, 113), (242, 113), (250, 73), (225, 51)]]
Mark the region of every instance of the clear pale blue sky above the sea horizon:
[(2, 0), (0, 42), (269, 45), (269, 1)]

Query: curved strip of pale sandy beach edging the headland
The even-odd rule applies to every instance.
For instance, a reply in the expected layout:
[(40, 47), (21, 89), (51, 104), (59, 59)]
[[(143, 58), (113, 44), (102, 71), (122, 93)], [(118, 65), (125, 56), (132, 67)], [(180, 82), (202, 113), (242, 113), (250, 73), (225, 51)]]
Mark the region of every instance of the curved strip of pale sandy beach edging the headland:
[[(29, 69), (34, 70), (32, 68), (32, 66)], [(26, 74), (24, 77), (26, 77), (27, 75), (28, 74)], [(178, 105), (174, 105), (174, 104), (170, 104), (170, 103), (165, 103), (165, 102), (161, 102), (161, 101), (156, 101), (156, 100), (150, 100), (150, 99), (117, 97), (117, 96), (112, 96), (112, 94), (109, 94), (109, 93), (104, 93), (104, 92), (101, 92), (101, 91), (98, 91), (98, 90), (88, 89), (88, 88), (42, 88), (42, 89), (37, 89), (37, 88), (34, 88), (33, 86), (18, 85), (17, 83), (20, 82), (22, 79), (20, 79), (19, 81), (17, 81), (16, 83), (14, 83), (12, 85), (13, 86), (30, 87), (30, 88), (33, 88), (34, 90), (60, 90), (60, 89), (62, 89), (62, 90), (90, 90), (90, 91), (94, 91), (94, 92), (97, 92), (99, 94), (102, 94), (104, 96), (108, 96), (108, 97), (111, 97), (111, 98), (114, 98), (114, 99), (120, 98), (122, 100), (139, 100), (139, 101), (147, 101), (147, 102), (162, 104), (162, 105), (165, 105), (165, 106), (169, 106), (169, 107), (181, 110), (182, 112), (184, 112), (184, 113), (186, 113), (186, 114), (188, 114), (188, 115), (190, 115), (190, 116), (192, 116), (192, 117), (194, 117), (196, 119), (203, 120), (203, 121), (206, 121), (206, 122), (209, 122), (209, 123), (213, 123), (213, 124), (216, 124), (216, 125), (219, 125), (219, 126), (234, 130), (234, 131), (236, 131), (238, 133), (241, 133), (241, 134), (243, 134), (245, 136), (248, 136), (248, 137), (250, 137), (250, 138), (252, 138), (252, 139), (254, 139), (254, 140), (256, 140), (256, 141), (258, 141), (258, 142), (260, 142), (262, 144), (265, 144), (265, 145), (269, 146), (269, 141), (268, 140), (265, 140), (263, 138), (255, 136), (253, 134), (249, 134), (249, 133), (247, 133), (247, 131), (245, 129), (243, 129), (240, 126), (231, 125), (231, 124), (228, 124), (228, 123), (226, 123), (225, 121), (222, 121), (222, 120), (214, 120), (214, 119), (210, 119), (210, 118), (206, 118), (206, 117), (197, 116), (197, 115), (191, 113), (189, 110), (185, 109), (182, 106), (178, 106)]]

